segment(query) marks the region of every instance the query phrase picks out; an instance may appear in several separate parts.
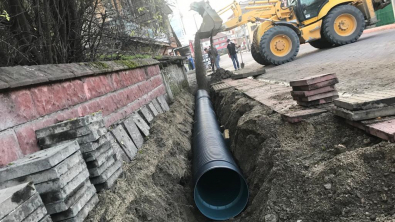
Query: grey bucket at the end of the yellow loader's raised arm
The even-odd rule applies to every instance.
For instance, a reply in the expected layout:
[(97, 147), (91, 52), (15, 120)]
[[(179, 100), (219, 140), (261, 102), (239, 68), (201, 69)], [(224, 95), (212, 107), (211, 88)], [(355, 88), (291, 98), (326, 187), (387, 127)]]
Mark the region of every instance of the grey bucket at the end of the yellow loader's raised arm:
[(223, 21), (208, 3), (204, 1), (193, 2), (191, 4), (191, 9), (198, 12), (203, 17), (203, 23), (198, 31), (201, 39), (210, 38), (221, 31)]

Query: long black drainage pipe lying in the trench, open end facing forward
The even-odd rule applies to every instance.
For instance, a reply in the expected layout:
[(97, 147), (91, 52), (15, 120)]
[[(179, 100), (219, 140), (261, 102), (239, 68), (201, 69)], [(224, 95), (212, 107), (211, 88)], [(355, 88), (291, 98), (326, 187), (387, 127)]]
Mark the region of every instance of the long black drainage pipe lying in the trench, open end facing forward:
[(195, 203), (206, 217), (227, 220), (237, 216), (247, 205), (247, 183), (225, 145), (207, 91), (198, 90), (195, 99)]

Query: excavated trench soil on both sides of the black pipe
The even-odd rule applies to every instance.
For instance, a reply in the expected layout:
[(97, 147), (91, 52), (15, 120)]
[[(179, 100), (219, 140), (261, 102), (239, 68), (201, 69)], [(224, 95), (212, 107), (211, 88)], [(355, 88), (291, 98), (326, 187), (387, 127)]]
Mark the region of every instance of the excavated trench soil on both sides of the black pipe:
[[(395, 219), (395, 145), (331, 114), (288, 124), (237, 90), (211, 97), (250, 189), (232, 221)], [(88, 221), (208, 221), (193, 200), (193, 101), (183, 93), (154, 121), (138, 158), (99, 195)]]

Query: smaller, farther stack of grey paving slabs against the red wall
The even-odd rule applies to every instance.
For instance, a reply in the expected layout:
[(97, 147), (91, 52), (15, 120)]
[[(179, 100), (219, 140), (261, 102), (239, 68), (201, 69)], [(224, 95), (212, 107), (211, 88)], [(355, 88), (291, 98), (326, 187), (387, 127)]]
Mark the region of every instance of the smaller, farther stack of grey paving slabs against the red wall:
[(90, 181), (97, 191), (101, 191), (111, 188), (122, 173), (122, 161), (106, 133), (99, 112), (40, 129), (36, 136), (42, 148), (77, 140), (89, 169)]

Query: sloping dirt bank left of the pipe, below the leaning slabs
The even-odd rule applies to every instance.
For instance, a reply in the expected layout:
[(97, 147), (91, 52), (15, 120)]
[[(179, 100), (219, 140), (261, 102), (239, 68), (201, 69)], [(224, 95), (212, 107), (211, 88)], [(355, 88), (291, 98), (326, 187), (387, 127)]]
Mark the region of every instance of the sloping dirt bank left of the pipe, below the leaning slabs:
[(99, 194), (87, 221), (204, 221), (190, 184), (194, 100), (182, 94), (156, 117), (137, 158), (124, 165), (113, 189)]

